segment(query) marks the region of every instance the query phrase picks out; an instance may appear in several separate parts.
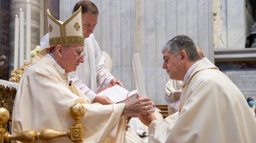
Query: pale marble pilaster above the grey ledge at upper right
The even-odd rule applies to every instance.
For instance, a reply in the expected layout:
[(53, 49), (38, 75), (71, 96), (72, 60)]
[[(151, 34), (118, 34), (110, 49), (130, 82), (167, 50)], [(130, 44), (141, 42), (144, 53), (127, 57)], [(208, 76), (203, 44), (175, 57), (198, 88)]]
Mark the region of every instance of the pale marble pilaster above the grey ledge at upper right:
[(214, 47), (245, 49), (246, 0), (214, 1)]

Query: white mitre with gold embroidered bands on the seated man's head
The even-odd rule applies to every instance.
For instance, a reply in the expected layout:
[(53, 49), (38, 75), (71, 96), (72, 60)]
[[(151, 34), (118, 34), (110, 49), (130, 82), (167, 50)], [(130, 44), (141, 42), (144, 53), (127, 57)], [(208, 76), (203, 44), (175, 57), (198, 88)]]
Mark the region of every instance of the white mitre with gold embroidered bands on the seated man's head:
[(80, 7), (65, 22), (56, 20), (47, 9), (50, 47), (61, 45), (84, 45), (82, 8)]

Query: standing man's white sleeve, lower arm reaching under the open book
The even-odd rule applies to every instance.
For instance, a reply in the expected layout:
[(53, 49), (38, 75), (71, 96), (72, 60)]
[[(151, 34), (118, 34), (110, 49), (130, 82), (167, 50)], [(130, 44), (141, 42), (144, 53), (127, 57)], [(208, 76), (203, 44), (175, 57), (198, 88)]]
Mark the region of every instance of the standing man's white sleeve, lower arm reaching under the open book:
[(69, 77), (75, 84), (75, 86), (80, 89), (84, 95), (91, 100), (91, 103), (93, 103), (93, 100), (97, 96), (90, 88), (88, 88), (85, 84), (82, 83), (80, 79), (74, 74), (74, 72), (69, 73)]

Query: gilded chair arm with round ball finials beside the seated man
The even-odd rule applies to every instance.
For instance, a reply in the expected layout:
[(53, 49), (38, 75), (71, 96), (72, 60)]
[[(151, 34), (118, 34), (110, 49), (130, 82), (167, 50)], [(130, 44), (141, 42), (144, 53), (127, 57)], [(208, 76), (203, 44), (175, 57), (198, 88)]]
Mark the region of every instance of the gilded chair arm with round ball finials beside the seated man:
[(17, 140), (22, 142), (36, 142), (41, 140), (44, 142), (52, 141), (56, 138), (67, 136), (72, 142), (80, 143), (84, 139), (84, 128), (79, 120), (84, 116), (85, 109), (80, 103), (75, 103), (69, 109), (70, 116), (75, 120), (75, 124), (70, 127), (68, 132), (55, 131), (52, 129), (44, 129), (40, 132), (35, 130), (23, 131), (20, 134), (11, 135), (4, 128), (4, 124), (9, 120), (10, 114), (7, 109), (0, 108), (0, 143)]

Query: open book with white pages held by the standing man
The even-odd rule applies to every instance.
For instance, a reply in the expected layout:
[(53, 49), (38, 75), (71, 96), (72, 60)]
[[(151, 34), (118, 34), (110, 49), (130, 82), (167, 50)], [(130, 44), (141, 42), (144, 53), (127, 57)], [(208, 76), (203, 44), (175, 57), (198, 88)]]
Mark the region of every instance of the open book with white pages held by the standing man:
[(109, 97), (109, 99), (114, 103), (125, 103), (137, 98), (137, 90), (129, 92), (125, 88), (116, 84), (99, 91), (97, 95)]

